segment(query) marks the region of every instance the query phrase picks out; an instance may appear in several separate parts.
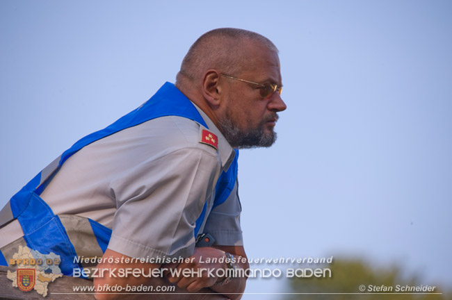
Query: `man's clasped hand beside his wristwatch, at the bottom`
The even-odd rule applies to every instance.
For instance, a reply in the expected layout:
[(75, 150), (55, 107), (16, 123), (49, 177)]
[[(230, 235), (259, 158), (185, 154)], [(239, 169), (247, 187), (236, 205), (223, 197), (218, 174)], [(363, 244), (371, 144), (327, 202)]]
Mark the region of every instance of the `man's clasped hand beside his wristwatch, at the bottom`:
[[(170, 283), (176, 283), (179, 288), (184, 288), (188, 292), (197, 292), (202, 288), (209, 288), (214, 285), (217, 281), (223, 278), (218, 278), (216, 276), (217, 269), (226, 269), (227, 264), (225, 263), (225, 253), (221, 250), (202, 247), (195, 248), (193, 256), (191, 256), (190, 263), (181, 263), (177, 267), (168, 265), (166, 267), (175, 267), (174, 276), (171, 276), (170, 272), (166, 272), (166, 276)], [(216, 263), (206, 263), (207, 259), (210, 259)], [(218, 260), (221, 263), (218, 263)], [(193, 276), (184, 276), (183, 272), (188, 272), (188, 274), (193, 274)], [(179, 272), (177, 276), (177, 272)], [(187, 274), (186, 274), (187, 275)]]

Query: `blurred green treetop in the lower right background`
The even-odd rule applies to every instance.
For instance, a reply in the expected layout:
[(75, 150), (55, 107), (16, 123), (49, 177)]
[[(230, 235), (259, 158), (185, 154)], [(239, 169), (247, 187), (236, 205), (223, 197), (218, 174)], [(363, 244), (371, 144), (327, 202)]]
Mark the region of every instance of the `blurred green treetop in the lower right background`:
[[(306, 267), (306, 266), (303, 266)], [(318, 267), (315, 266), (315, 267)], [(362, 260), (334, 259), (331, 265), (330, 278), (291, 278), (289, 285), (293, 293), (287, 295), (287, 300), (452, 300), (452, 294), (403, 294), (396, 291), (396, 285), (421, 286), (416, 276), (406, 279), (398, 267), (376, 268)], [(314, 266), (313, 266), (314, 268)], [(360, 291), (364, 285), (365, 291)], [(425, 285), (424, 285), (425, 286)], [(370, 288), (369, 288), (370, 287)], [(392, 291), (389, 287), (392, 287)], [(385, 291), (386, 290), (386, 291)], [(444, 292), (438, 286), (434, 293)], [(312, 294), (310, 294), (312, 293)], [(341, 294), (355, 293), (355, 294)], [(364, 294), (369, 293), (369, 294)], [(370, 294), (372, 293), (372, 294)], [(397, 293), (397, 294), (389, 294)], [(421, 292), (418, 292), (421, 293)]]

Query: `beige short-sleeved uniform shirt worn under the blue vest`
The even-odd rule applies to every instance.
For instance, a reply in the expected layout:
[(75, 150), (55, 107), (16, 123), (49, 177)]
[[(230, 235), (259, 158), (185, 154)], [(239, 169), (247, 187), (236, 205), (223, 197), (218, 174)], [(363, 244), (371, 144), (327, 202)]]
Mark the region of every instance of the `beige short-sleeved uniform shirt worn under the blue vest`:
[[(210, 233), (216, 244), (242, 245), (237, 183), (227, 201), (211, 209), (218, 176), (235, 152), (198, 110), (217, 135), (218, 150), (200, 143), (200, 124), (159, 117), (75, 153), (42, 199), (55, 215), (88, 217), (113, 229), (108, 248), (127, 256), (191, 256), (195, 221), (206, 201), (200, 233)], [(0, 235), (10, 235), (5, 240), (22, 236), (15, 222), (1, 228)]]

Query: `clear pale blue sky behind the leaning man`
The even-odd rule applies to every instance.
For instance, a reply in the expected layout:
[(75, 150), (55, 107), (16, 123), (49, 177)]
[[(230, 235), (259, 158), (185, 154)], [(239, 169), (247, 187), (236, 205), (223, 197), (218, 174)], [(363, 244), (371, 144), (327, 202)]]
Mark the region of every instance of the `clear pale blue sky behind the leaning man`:
[[(438, 0), (1, 1), (0, 204), (174, 82), (202, 33), (245, 28), (280, 49), (288, 106), (274, 147), (241, 151), (248, 256), (362, 257), (451, 286), (451, 13)], [(288, 290), (255, 279), (247, 292)]]

